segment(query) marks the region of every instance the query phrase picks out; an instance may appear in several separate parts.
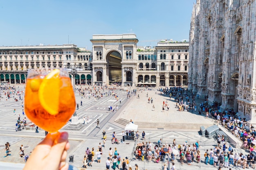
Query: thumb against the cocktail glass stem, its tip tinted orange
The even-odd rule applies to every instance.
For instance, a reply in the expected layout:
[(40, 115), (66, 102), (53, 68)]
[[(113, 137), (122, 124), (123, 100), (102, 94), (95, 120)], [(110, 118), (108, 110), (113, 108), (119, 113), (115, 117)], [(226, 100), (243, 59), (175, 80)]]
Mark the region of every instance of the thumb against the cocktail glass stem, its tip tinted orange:
[(62, 132), (56, 139), (54, 140), (54, 144), (50, 150), (49, 153), (49, 160), (51, 162), (55, 162), (58, 166), (61, 161), (61, 156), (63, 154), (63, 151), (65, 150), (65, 146), (68, 142), (68, 133)]

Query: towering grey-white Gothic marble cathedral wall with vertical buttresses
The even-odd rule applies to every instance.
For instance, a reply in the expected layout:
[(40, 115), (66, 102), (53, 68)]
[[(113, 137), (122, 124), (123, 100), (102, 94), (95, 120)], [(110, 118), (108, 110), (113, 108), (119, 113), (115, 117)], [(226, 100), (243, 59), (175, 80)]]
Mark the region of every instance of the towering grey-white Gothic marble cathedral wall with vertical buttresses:
[(189, 89), (256, 124), (256, 2), (197, 0), (191, 17)]

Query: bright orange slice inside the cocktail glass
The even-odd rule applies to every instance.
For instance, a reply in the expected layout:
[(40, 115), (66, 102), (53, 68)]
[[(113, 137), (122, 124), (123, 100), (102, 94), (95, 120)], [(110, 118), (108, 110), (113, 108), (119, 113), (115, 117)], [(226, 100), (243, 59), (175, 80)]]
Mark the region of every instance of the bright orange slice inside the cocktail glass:
[(59, 74), (60, 70), (58, 69), (49, 72), (38, 89), (40, 104), (51, 115), (58, 114), (61, 82)]

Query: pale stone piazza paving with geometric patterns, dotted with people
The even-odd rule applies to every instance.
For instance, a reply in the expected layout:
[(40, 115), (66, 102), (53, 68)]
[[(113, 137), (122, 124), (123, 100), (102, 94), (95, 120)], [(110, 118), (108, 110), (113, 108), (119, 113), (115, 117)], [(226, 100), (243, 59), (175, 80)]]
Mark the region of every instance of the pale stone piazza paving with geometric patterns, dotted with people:
[[(82, 86), (85, 88), (88, 86)], [(20, 91), (24, 91), (24, 85), (16, 85), (16, 89)], [(120, 118), (129, 121), (132, 119), (134, 123), (136, 122), (148, 122), (150, 123), (160, 123), (160, 124), (180, 124), (183, 128), (177, 129), (168, 129), (168, 128), (159, 128), (157, 126), (151, 127), (138, 127), (139, 133), (145, 131), (146, 133), (146, 142), (157, 142), (160, 138), (163, 139), (163, 143), (172, 144), (172, 140), (174, 138), (177, 139), (177, 144), (184, 144), (185, 141), (195, 143), (196, 141), (202, 142), (204, 146), (201, 148), (201, 154), (203, 157), (204, 150), (206, 148), (212, 148), (214, 144), (213, 139), (207, 139), (205, 137), (200, 136), (200, 129), (191, 129), (187, 124), (204, 124), (211, 126), (214, 124), (212, 119), (206, 119), (204, 115), (199, 115), (198, 112), (188, 112), (188, 111), (177, 111), (175, 109), (176, 102), (174, 99), (161, 95), (159, 91), (155, 91), (157, 88), (152, 88), (152, 90), (148, 90), (146, 88), (138, 88), (143, 89), (142, 92), (137, 92), (140, 98), (137, 98), (134, 94), (130, 94), (131, 97), (129, 99), (126, 98), (127, 90), (132, 92), (133, 89), (137, 89), (137, 87), (117, 87), (114, 90), (117, 93), (119, 100), (117, 101), (113, 96), (103, 96), (102, 99), (94, 101), (93, 98), (81, 98), (79, 93), (76, 91), (76, 102), (79, 103), (79, 109), (76, 110), (77, 117), (79, 118), (79, 122), (83, 122), (83, 116), (89, 116), (90, 122), (89, 124), (84, 124), (79, 130), (70, 130), (68, 128), (70, 122), (67, 122), (65, 126), (60, 131), (67, 131), (69, 133), (69, 142), (70, 149), (68, 150), (67, 162), (70, 160), (69, 156), (73, 155), (74, 162), (70, 163), (71, 165), (80, 168), (83, 166), (83, 157), (85, 155), (86, 148), (94, 147), (96, 151), (99, 145), (99, 142), (102, 144), (102, 131), (106, 131), (107, 142), (106, 147), (103, 148), (103, 155), (101, 156), (101, 163), (94, 162), (92, 167), (88, 167), (92, 170), (104, 170), (106, 169), (106, 160), (108, 157), (108, 150), (111, 147), (114, 149), (117, 147), (118, 153), (121, 157), (128, 157), (130, 160), (130, 165), (134, 169), (134, 164), (137, 163), (140, 169), (161, 169), (161, 165), (157, 163), (145, 164), (145, 161), (132, 161), (132, 149), (135, 146), (134, 141), (125, 141), (123, 144), (111, 144), (112, 133), (115, 131), (117, 135), (117, 139), (122, 138), (122, 131), (124, 131), (125, 125), (119, 124), (115, 120)], [(108, 92), (105, 90), (105, 92)], [(146, 94), (148, 93), (148, 97), (153, 98), (153, 103), (148, 103), (148, 97)], [(14, 101), (14, 98), (7, 99), (3, 94), (3, 90), (0, 91), (0, 94), (3, 98), (0, 100), (0, 169), (3, 170), (21, 170), (24, 166), (24, 159), (19, 157), (19, 148), (20, 145), (23, 145), (25, 148), (25, 153), (29, 154), (33, 148), (43, 140), (45, 137), (45, 131), (43, 129), (39, 130), (39, 133), (35, 133), (35, 129), (31, 127), (27, 130), (15, 131), (15, 124), (18, 118), (18, 114), (20, 114), (21, 120), (25, 116), (22, 116), (22, 107), (21, 100), (18, 102)], [(80, 102), (83, 102), (83, 106), (80, 106)], [(120, 103), (121, 100), (121, 103)], [(162, 111), (162, 103), (163, 101), (168, 101), (170, 105), (169, 111), (167, 109)], [(204, 99), (196, 99), (196, 103), (199, 106), (200, 102), (204, 101)], [(116, 106), (118, 105), (118, 111), (110, 112), (108, 111), (108, 106)], [(155, 111), (152, 111), (152, 105), (155, 105)], [(13, 115), (13, 109), (16, 109), (16, 115)], [(100, 129), (97, 128), (97, 119), (100, 120)], [(27, 122), (30, 120), (27, 119)], [(186, 126), (186, 128), (184, 128)], [(33, 129), (32, 129), (33, 128)], [(11, 156), (4, 156), (4, 144), (9, 142), (11, 144)], [(137, 142), (142, 142), (139, 139)], [(241, 149), (238, 149), (238, 152), (244, 152)], [(97, 159), (97, 158), (96, 158)], [(199, 165), (192, 166), (176, 166), (176, 169), (197, 169), (200, 168)], [(207, 166), (207, 169), (216, 169), (213, 166)], [(204, 168), (201, 168), (204, 169)]]

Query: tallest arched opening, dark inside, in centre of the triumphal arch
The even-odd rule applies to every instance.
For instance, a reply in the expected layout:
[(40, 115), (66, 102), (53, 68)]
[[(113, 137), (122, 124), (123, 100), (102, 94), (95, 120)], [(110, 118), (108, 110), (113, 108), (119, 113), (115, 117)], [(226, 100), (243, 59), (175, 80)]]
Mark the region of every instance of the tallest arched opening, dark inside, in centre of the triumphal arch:
[(118, 51), (112, 50), (106, 56), (107, 60), (107, 80), (109, 84), (112, 82), (122, 82), (122, 56)]

